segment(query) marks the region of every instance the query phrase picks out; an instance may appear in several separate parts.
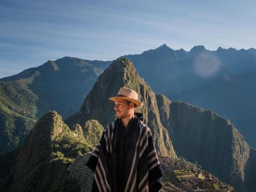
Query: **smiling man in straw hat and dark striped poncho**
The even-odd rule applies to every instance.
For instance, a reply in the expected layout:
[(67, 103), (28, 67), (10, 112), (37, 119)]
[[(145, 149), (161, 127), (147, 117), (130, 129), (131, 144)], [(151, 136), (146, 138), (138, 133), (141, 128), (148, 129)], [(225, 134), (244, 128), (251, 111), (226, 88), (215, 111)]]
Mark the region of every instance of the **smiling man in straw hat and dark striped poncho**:
[(159, 191), (163, 172), (152, 134), (143, 115), (134, 112), (143, 103), (127, 88), (109, 99), (117, 118), (105, 127), (87, 162), (95, 172), (92, 191)]

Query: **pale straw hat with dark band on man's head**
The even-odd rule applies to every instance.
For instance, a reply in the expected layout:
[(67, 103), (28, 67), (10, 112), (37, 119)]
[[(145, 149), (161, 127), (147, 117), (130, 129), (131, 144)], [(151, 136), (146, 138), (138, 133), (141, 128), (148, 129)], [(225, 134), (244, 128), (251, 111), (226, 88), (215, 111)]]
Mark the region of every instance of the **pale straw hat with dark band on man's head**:
[(115, 97), (110, 97), (109, 100), (115, 101), (116, 98), (122, 98), (132, 101), (137, 105), (137, 108), (143, 105), (143, 102), (138, 100), (138, 94), (132, 89), (120, 88), (118, 94)]

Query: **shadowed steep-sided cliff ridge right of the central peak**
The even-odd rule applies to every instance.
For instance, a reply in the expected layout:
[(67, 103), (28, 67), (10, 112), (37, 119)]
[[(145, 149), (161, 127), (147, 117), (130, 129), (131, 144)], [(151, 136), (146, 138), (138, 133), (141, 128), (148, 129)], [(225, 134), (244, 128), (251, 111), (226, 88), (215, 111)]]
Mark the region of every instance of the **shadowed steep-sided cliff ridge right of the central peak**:
[(236, 127), (211, 110), (170, 101), (164, 95), (158, 95), (157, 103), (165, 106), (160, 119), (168, 127), (177, 155), (198, 162), (222, 181), (244, 191), (245, 166), (251, 153)]

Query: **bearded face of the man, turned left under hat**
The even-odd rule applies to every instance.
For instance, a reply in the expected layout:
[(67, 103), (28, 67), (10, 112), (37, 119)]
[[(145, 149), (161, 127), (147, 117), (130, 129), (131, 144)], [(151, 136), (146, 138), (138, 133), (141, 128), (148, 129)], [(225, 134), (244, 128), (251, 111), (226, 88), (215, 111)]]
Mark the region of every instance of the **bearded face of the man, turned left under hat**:
[(117, 98), (115, 101), (114, 110), (116, 111), (117, 118), (123, 119), (133, 112), (132, 103), (130, 103), (129, 106), (125, 99)]

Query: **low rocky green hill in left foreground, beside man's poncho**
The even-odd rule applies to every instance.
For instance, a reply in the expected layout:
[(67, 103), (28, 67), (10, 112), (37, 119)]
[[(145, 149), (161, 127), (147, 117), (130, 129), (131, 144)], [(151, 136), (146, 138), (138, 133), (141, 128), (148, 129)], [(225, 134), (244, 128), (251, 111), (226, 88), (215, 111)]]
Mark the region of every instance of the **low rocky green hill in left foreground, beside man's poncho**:
[(103, 132), (95, 120), (80, 128), (71, 131), (56, 111), (42, 116), (18, 155), (17, 152), (0, 155), (1, 165), (16, 159), (15, 163), (9, 163), (8, 170), (1, 172), (0, 191), (79, 191), (67, 168), (78, 155), (91, 152), (100, 138), (95, 138), (95, 143), (87, 141), (84, 134), (94, 131), (96, 137)]

